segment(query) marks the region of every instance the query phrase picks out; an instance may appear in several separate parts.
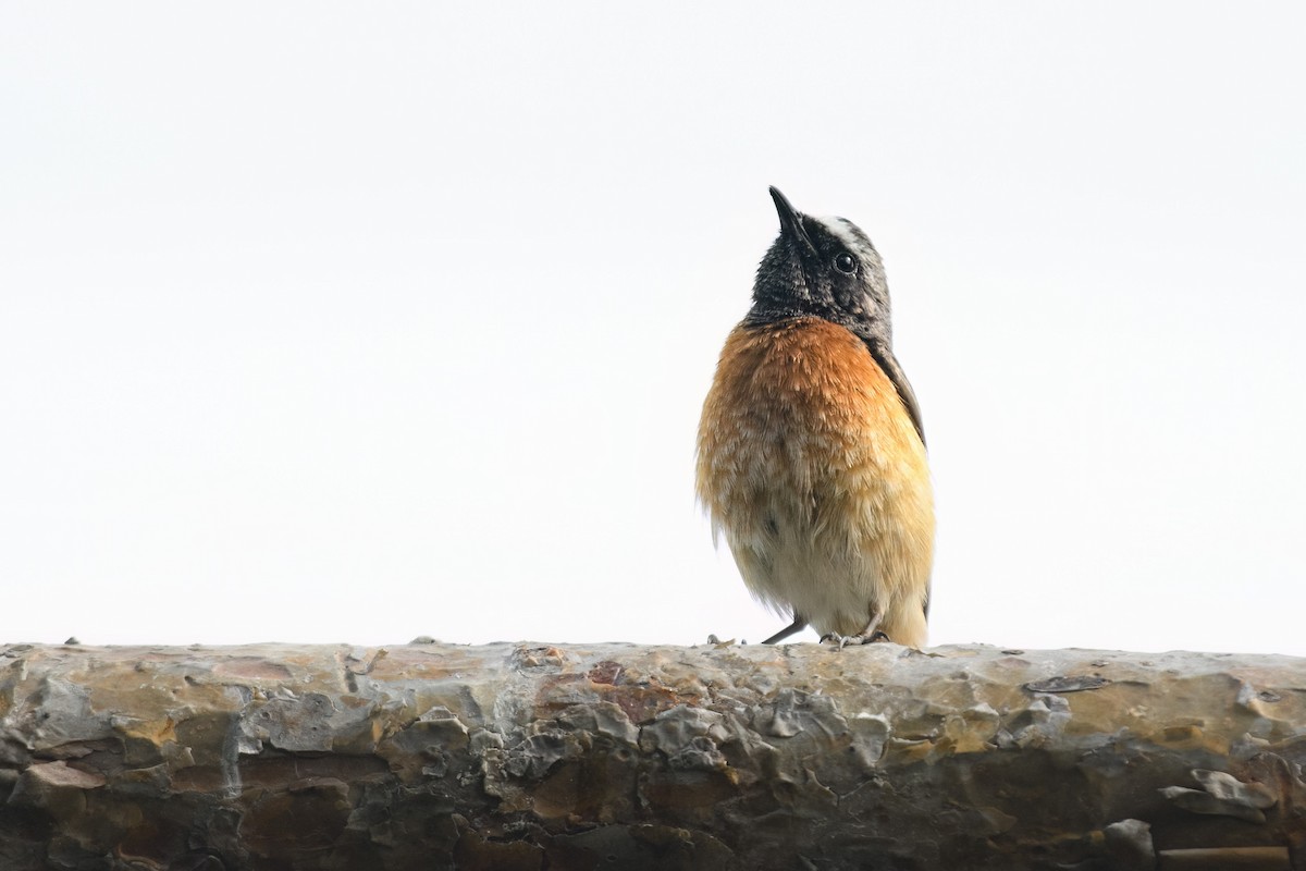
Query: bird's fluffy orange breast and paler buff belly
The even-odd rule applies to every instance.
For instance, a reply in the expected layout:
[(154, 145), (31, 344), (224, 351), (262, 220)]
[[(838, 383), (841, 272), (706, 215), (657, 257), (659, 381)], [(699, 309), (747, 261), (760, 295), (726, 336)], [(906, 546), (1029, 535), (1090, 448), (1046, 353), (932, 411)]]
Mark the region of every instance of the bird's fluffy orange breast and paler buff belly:
[(891, 639), (923, 644), (925, 445), (857, 336), (814, 317), (735, 328), (704, 402), (696, 473), (754, 594), (821, 632), (858, 632), (879, 611)]

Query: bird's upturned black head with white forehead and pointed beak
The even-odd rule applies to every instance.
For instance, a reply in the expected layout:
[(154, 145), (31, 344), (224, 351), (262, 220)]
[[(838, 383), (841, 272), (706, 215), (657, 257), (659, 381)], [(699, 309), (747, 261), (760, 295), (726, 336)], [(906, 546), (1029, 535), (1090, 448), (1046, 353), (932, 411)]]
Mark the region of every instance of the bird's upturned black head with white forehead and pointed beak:
[(812, 218), (771, 189), (780, 238), (757, 266), (752, 316), (810, 315), (889, 340), (889, 291), (871, 240), (844, 218)]

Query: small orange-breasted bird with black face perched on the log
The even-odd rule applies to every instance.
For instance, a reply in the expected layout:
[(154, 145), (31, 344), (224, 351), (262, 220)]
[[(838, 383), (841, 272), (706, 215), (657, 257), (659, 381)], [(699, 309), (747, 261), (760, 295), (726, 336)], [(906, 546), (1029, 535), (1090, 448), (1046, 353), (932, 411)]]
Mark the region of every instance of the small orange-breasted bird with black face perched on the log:
[(821, 642), (926, 642), (934, 488), (893, 355), (884, 265), (845, 218), (794, 209), (730, 332), (699, 422), (695, 488), (750, 593)]

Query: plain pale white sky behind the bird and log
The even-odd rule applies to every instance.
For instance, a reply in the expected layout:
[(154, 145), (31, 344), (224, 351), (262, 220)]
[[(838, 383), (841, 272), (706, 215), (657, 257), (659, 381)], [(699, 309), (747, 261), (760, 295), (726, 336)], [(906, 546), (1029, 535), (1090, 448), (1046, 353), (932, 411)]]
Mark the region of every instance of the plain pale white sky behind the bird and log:
[(1306, 654), (1303, 9), (3, 3), (0, 641), (771, 635), (774, 184), (884, 257), (931, 644)]

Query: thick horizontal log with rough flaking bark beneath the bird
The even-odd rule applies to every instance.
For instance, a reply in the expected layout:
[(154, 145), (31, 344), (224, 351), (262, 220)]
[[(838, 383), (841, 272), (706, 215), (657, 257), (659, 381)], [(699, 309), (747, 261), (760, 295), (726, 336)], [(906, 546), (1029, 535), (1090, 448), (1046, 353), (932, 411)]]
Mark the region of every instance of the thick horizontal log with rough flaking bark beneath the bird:
[(1306, 661), (0, 648), (0, 868), (1306, 868)]

